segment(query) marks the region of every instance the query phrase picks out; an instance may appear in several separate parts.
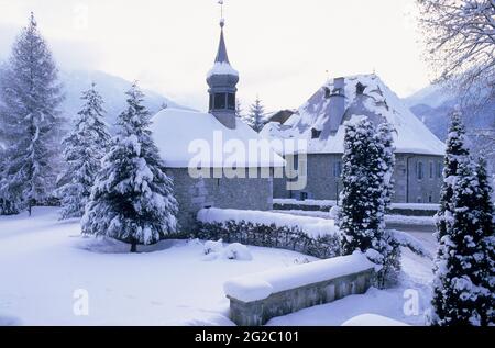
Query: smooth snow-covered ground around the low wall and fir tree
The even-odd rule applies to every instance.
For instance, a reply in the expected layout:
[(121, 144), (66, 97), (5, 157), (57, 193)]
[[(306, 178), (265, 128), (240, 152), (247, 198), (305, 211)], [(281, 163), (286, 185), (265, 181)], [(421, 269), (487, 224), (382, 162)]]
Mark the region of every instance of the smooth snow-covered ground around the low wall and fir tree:
[[(430, 236), (424, 242), (435, 247)], [(120, 243), (81, 237), (78, 221), (59, 222), (56, 209), (35, 209), (31, 218), (0, 217), (0, 325), (233, 325), (223, 293), (227, 280), (315, 260), (256, 247), (250, 247), (251, 261), (208, 260), (202, 244), (185, 240), (141, 247), (145, 252), (138, 255), (128, 250)], [(268, 325), (341, 325), (362, 314), (421, 325), (431, 262), (405, 254), (403, 263), (397, 289), (371, 289)], [(74, 314), (79, 289), (89, 294), (88, 316)], [(418, 299), (417, 315), (403, 310), (407, 289)]]

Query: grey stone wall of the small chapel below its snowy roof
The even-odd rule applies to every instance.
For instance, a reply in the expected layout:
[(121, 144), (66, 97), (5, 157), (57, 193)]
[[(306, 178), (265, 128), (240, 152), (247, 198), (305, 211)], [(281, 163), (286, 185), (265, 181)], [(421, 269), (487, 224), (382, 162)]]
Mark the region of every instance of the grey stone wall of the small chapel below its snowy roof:
[(273, 178), (195, 179), (186, 168), (169, 168), (179, 204), (179, 232), (193, 233), (196, 215), (204, 207), (270, 211), (273, 207)]

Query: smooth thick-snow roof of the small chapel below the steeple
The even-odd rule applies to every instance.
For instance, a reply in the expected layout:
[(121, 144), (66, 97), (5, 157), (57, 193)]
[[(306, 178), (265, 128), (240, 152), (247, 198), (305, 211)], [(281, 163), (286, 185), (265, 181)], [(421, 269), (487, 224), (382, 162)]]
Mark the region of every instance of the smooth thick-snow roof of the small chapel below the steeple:
[[(152, 119), (151, 131), (168, 168), (189, 168), (198, 158), (202, 168), (285, 166), (268, 142), (241, 120), (230, 130), (209, 113), (165, 109)], [(250, 145), (261, 149), (250, 150)]]

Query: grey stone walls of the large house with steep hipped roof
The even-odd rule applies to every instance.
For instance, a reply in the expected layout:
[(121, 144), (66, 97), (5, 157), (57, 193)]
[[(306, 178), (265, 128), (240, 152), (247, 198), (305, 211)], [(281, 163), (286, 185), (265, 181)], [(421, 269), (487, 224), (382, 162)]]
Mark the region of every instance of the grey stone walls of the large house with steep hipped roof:
[[(300, 199), (304, 192), (308, 199), (337, 200), (342, 190), (342, 180), (336, 176), (334, 166), (342, 161), (341, 155), (315, 154), (308, 155), (308, 183), (305, 190), (287, 190), (287, 179), (274, 179), (274, 198)], [(424, 178), (417, 176), (419, 162), (424, 167)], [(396, 155), (395, 203), (438, 203), (442, 183), (441, 171), (443, 164), (441, 156), (428, 155)], [(440, 165), (440, 167), (439, 167)], [(430, 167), (432, 176), (430, 176)]]

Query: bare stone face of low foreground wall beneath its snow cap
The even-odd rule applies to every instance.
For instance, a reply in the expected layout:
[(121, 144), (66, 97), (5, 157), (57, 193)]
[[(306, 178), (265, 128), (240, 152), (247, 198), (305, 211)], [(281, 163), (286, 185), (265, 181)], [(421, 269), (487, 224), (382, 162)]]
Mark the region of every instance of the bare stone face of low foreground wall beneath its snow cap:
[(242, 302), (230, 299), (230, 318), (239, 326), (261, 326), (271, 318), (315, 305), (365, 293), (372, 285), (374, 270), (330, 279), (306, 287), (274, 293), (265, 300)]

